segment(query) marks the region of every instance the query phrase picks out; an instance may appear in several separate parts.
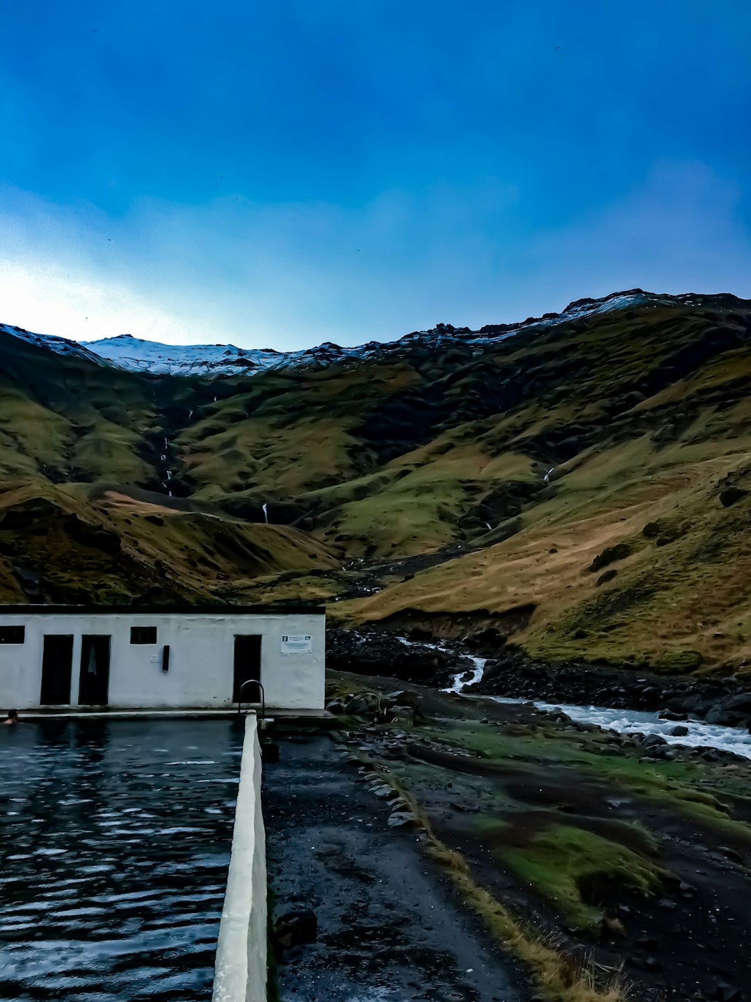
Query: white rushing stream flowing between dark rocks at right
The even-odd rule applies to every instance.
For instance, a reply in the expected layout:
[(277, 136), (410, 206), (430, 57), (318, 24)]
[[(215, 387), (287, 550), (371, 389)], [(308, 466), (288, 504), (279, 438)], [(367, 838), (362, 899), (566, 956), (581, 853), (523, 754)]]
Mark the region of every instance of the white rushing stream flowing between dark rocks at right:
[[(408, 641), (409, 642), (409, 641)], [(425, 644), (424, 646), (428, 646)], [(432, 644), (431, 646), (440, 646)], [(469, 657), (475, 667), (472, 677), (462, 680), (468, 668), (455, 675), (454, 682), (442, 692), (462, 692), (466, 685), (474, 685), (483, 677), (487, 658)], [(469, 694), (469, 693), (468, 693)], [(517, 699), (510, 696), (493, 695), (487, 698), (496, 702), (533, 703), (538, 709), (560, 710), (577, 723), (596, 723), (605, 730), (615, 730), (621, 734), (659, 734), (669, 744), (684, 744), (690, 747), (712, 747), (751, 759), (751, 733), (741, 727), (724, 727), (719, 723), (705, 723), (704, 720), (661, 720), (658, 712), (640, 709), (614, 709), (610, 706), (578, 706), (566, 702), (545, 702), (542, 699)], [(676, 726), (684, 726), (687, 734), (672, 734)]]

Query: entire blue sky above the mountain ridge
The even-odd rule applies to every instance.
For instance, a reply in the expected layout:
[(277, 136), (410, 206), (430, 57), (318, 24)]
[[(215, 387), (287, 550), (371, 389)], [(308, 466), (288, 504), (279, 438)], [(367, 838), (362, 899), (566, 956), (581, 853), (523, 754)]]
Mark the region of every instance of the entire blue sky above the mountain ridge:
[(751, 296), (745, 0), (0, 0), (0, 321), (300, 348)]

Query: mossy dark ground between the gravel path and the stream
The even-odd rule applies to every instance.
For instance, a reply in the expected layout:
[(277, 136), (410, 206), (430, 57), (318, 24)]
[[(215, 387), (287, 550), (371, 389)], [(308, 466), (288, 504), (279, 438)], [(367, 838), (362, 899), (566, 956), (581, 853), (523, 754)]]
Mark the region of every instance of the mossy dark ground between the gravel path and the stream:
[[(340, 674), (329, 684), (339, 695), (404, 687)], [(721, 977), (751, 988), (727, 935), (751, 892), (751, 763), (689, 749), (652, 759), (529, 705), (430, 690), (416, 726), (342, 729), (414, 806), (473, 907), (538, 965), (548, 997), (569, 989), (530, 942), (556, 945), (559, 959), (581, 951), (601, 991), (620, 971), (634, 999), (693, 998)]]

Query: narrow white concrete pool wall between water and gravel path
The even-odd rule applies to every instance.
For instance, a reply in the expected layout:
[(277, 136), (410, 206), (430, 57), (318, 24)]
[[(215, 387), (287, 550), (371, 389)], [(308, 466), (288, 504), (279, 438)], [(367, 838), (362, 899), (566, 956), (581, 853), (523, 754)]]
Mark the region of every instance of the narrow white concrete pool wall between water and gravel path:
[(216, 943), (213, 1002), (265, 1002), (266, 998), (266, 848), (260, 785), (258, 724), (248, 714)]

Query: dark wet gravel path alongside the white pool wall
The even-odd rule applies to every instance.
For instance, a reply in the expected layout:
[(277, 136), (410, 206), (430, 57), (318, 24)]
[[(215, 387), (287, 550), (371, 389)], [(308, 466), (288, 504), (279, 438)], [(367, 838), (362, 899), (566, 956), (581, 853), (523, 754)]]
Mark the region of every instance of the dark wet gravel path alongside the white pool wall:
[(282, 1002), (527, 1002), (515, 962), (354, 776), (322, 736), (282, 740), (264, 766), (276, 914), (318, 920), (316, 942), (284, 954)]

